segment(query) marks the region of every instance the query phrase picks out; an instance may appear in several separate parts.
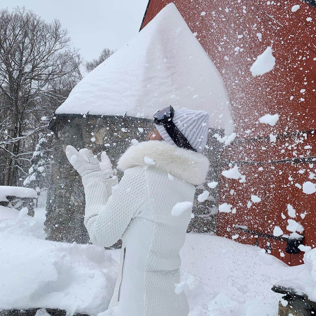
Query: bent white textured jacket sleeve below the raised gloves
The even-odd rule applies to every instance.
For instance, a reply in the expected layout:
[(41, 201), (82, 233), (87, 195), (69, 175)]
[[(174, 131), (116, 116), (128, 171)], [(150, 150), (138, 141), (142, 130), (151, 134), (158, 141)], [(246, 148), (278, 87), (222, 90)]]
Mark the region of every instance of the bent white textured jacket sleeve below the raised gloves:
[(86, 196), (84, 225), (95, 245), (109, 247), (118, 241), (147, 201), (143, 167), (125, 170), (119, 184), (117, 181), (116, 177), (104, 179), (102, 172), (82, 178)]

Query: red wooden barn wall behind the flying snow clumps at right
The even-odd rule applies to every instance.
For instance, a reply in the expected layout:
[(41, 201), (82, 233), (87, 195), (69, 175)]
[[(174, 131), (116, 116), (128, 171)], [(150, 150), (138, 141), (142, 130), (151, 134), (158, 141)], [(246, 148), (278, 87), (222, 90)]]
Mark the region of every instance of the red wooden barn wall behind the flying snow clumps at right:
[[(170, 2), (150, 0), (142, 27)], [(316, 193), (307, 195), (299, 188), (306, 181), (316, 182), (316, 11), (297, 0), (173, 2), (192, 33), (197, 32), (228, 90), (237, 137), (223, 148), (222, 168), (237, 164), (246, 175), (242, 183), (220, 179), (219, 204), (231, 204), (236, 213), (219, 213), (217, 234), (238, 235), (236, 241), (258, 244), (287, 264), (300, 264), (303, 253), (287, 254), (286, 241), (272, 232), (277, 225), (289, 234), (291, 204), (298, 213), (295, 220), (305, 228), (304, 244), (316, 244)], [(293, 13), (295, 4), (301, 7)], [(253, 77), (250, 67), (267, 46), (272, 47), (276, 64), (263, 76)], [(266, 113), (278, 113), (275, 126), (259, 123)], [(276, 136), (275, 143), (270, 134)], [(252, 194), (261, 202), (248, 208)]]

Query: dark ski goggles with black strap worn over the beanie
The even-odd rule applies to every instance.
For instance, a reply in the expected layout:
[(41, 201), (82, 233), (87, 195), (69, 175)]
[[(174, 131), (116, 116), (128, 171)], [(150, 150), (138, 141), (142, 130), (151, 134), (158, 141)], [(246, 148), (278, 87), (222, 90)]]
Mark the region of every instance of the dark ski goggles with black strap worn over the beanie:
[(170, 105), (156, 112), (154, 115), (154, 123), (157, 125), (163, 125), (170, 138), (178, 147), (196, 151), (196, 149), (190, 145), (185, 136), (179, 131), (178, 127), (173, 123), (173, 116), (174, 109)]

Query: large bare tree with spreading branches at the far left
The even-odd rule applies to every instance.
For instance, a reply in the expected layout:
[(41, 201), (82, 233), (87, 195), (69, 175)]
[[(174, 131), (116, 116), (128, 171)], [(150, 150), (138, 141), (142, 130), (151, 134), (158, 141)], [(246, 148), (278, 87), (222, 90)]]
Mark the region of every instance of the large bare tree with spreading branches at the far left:
[[(52, 113), (81, 79), (82, 62), (60, 21), (32, 11), (0, 11), (0, 183), (16, 185), (19, 162), (28, 160), (26, 139), (47, 127)], [(21, 142), (25, 142), (21, 145)], [(27, 147), (27, 146), (26, 146)], [(33, 150), (31, 151), (33, 152)], [(25, 173), (25, 172), (24, 172)]]

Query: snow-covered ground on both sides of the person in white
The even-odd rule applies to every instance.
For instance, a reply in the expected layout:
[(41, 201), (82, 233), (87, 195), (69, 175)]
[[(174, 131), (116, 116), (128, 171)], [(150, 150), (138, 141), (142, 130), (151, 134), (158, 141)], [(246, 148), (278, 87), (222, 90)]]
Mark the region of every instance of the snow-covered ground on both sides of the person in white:
[[(45, 210), (35, 217), (0, 209), (0, 309), (52, 307), (104, 311), (118, 273), (119, 251), (45, 240)], [(9, 218), (9, 219), (8, 219)], [(111, 258), (112, 255), (112, 258)], [(288, 267), (257, 247), (208, 234), (187, 234), (181, 251), (182, 284), (190, 316), (277, 315), (282, 295), (274, 283), (303, 266)]]

